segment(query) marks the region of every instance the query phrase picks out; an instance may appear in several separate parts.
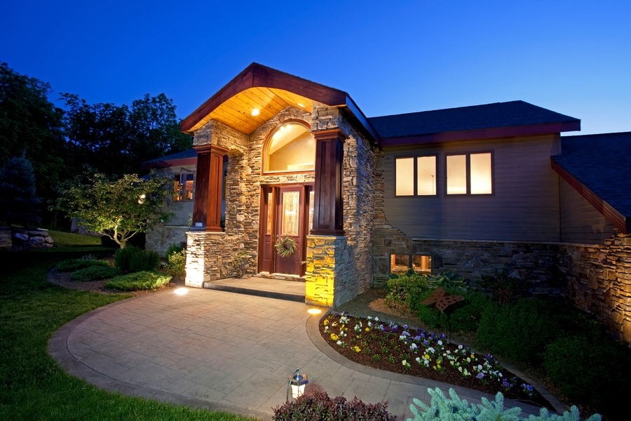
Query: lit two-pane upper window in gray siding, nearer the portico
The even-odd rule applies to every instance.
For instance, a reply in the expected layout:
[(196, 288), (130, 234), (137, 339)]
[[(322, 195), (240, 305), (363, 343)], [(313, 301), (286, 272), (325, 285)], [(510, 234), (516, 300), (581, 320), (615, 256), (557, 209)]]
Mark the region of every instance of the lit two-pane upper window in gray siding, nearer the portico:
[[(416, 177), (415, 175), (416, 174)], [(397, 196), (436, 194), (436, 156), (417, 156), (395, 160)], [(416, 184), (415, 184), (416, 182)]]

